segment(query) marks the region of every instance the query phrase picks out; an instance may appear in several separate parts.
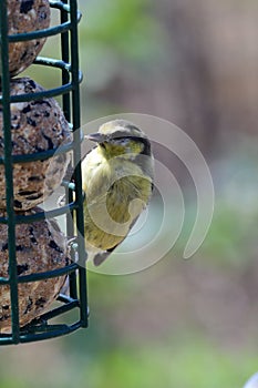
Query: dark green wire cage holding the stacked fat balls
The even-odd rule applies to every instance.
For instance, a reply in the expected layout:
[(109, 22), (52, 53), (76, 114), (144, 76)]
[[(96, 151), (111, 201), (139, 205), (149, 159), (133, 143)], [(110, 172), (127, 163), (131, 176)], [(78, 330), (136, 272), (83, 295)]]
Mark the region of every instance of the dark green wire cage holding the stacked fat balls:
[[(1, 43), (1, 96), (0, 106), (3, 120), (4, 153), (0, 157), (0, 164), (4, 165), (6, 174), (6, 215), (0, 217), (0, 224), (8, 225), (8, 249), (9, 272), (8, 277), (0, 277), (0, 287), (9, 286), (11, 300), (11, 333), (0, 334), (0, 345), (30, 343), (72, 333), (81, 327), (87, 327), (87, 299), (86, 299), (86, 269), (79, 263), (85, 261), (84, 227), (83, 227), (83, 193), (81, 182), (81, 141), (80, 133), (80, 83), (82, 73), (79, 70), (78, 24), (81, 13), (78, 10), (76, 0), (50, 1), (50, 7), (58, 10), (59, 22), (54, 27), (37, 30), (28, 33), (8, 34), (8, 0), (0, 1), (0, 43)], [(56, 12), (56, 11), (55, 11)], [(32, 39), (60, 35), (61, 59), (38, 57), (33, 64), (51, 67), (61, 71), (62, 84), (58, 88), (39, 91), (30, 94), (10, 94), (9, 76), (9, 43), (22, 42)], [(41, 151), (33, 154), (12, 155), (11, 135), (11, 104), (41, 100), (60, 95), (65, 119), (70, 123), (72, 141), (60, 146), (58, 150)], [(65, 204), (61, 207), (42, 211), (35, 214), (18, 214), (13, 208), (13, 165), (16, 163), (28, 163), (43, 161), (54, 153), (72, 153), (74, 170), (74, 183), (63, 182), (65, 186)], [(74, 235), (71, 216), (75, 216), (76, 237), (75, 249), (72, 249), (73, 261), (71, 264), (48, 272), (19, 275), (17, 267), (16, 226), (18, 224), (30, 224), (43, 218), (53, 218), (60, 215), (66, 217), (68, 235)], [(76, 261), (75, 261), (76, 255)], [(0, 263), (1, 266), (1, 263)], [(19, 285), (31, 282), (45, 280), (61, 275), (68, 275), (69, 292), (60, 294), (58, 306), (37, 317), (24, 327), (19, 326)], [(76, 320), (72, 324), (65, 323), (64, 314), (70, 310), (76, 312)], [(59, 317), (64, 323), (51, 323), (52, 318)]]

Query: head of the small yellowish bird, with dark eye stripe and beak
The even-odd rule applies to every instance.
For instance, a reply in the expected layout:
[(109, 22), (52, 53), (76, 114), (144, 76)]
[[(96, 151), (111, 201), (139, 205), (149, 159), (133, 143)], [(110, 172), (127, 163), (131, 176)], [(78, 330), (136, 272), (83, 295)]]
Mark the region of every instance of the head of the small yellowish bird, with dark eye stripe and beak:
[(152, 155), (151, 143), (145, 133), (126, 120), (109, 121), (97, 132), (85, 135), (85, 139), (97, 143), (106, 159)]

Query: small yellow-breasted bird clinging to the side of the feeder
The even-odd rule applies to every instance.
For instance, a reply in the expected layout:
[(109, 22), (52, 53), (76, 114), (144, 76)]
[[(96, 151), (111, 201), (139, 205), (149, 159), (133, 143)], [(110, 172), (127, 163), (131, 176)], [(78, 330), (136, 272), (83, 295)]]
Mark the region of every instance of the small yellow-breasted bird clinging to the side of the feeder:
[(89, 259), (102, 264), (149, 202), (154, 157), (146, 134), (125, 120), (85, 135), (97, 145), (82, 161), (84, 234)]

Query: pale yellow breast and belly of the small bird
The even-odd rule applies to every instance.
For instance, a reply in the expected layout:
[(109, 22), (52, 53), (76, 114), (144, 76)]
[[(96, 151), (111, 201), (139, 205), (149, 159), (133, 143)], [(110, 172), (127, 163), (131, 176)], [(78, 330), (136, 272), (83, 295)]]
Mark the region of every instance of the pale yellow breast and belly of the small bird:
[(85, 191), (85, 239), (91, 246), (111, 249), (127, 235), (146, 206), (152, 181), (131, 160), (107, 160), (94, 149), (82, 162)]

